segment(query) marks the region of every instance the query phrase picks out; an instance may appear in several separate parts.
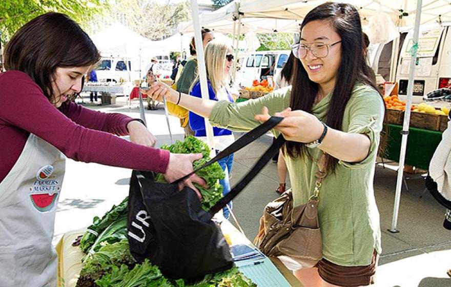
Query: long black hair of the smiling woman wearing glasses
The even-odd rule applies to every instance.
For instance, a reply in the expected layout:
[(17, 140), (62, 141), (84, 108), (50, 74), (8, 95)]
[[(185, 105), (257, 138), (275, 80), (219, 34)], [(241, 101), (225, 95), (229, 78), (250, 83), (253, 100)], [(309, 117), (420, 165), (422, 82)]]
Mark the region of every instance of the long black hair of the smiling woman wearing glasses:
[[(315, 20), (327, 20), (335, 32), (341, 37), (341, 63), (337, 71), (336, 85), (325, 123), (327, 126), (342, 130), (344, 109), (351, 98), (352, 90), (357, 82), (373, 87), (378, 91), (371, 78), (370, 68), (366, 65), (362, 45), (362, 26), (357, 9), (350, 4), (324, 3), (310, 11), (302, 21), (302, 28)], [(308, 73), (300, 61), (295, 61), (292, 77), (290, 107), (292, 110), (312, 112), (319, 85), (310, 80)], [(286, 152), (291, 157), (310, 156), (304, 144), (288, 141)], [(327, 155), (327, 170), (334, 171), (338, 159)]]

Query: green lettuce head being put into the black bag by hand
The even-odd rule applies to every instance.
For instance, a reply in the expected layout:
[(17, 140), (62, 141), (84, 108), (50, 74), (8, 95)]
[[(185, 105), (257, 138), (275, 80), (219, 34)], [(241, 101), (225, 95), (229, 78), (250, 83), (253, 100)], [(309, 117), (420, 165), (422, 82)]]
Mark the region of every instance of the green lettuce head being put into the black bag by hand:
[[(199, 168), (210, 160), (210, 149), (208, 145), (194, 136), (188, 136), (185, 138), (185, 141), (177, 140), (173, 145), (163, 145), (160, 148), (169, 150), (171, 153), (201, 153), (203, 157), (194, 161), (194, 169)], [(219, 180), (223, 179), (225, 174), (217, 162), (197, 171), (196, 174), (203, 178), (208, 185), (208, 188), (203, 188), (197, 185), (197, 183), (194, 183), (194, 186), (202, 195), (202, 208), (208, 211), (222, 198), (222, 186), (219, 184)], [(167, 182), (162, 174), (158, 174), (155, 180), (157, 182)]]

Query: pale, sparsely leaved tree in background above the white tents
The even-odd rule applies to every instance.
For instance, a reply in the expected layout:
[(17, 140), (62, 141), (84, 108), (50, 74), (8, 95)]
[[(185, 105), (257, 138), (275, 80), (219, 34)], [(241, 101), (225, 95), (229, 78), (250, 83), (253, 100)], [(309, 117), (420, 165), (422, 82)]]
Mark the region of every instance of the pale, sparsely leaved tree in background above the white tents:
[[(149, 0), (118, 0), (113, 15), (122, 19), (123, 24), (151, 40), (171, 36), (180, 22), (190, 19), (188, 2), (161, 3)], [(115, 19), (117, 20), (117, 19)]]

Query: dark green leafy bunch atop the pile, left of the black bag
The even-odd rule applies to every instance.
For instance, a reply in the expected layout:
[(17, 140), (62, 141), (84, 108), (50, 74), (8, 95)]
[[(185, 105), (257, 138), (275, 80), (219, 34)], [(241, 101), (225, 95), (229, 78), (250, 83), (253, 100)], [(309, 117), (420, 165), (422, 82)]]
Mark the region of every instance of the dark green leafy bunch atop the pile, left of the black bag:
[[(88, 230), (94, 233), (100, 234), (104, 231), (111, 223), (116, 221), (119, 217), (127, 215), (127, 203), (128, 197), (126, 197), (118, 206), (111, 208), (101, 219), (98, 216), (94, 217), (93, 224), (88, 227)], [(83, 237), (81, 237), (80, 248), (84, 253), (88, 252), (92, 244), (96, 241), (97, 236), (93, 232), (85, 232)]]

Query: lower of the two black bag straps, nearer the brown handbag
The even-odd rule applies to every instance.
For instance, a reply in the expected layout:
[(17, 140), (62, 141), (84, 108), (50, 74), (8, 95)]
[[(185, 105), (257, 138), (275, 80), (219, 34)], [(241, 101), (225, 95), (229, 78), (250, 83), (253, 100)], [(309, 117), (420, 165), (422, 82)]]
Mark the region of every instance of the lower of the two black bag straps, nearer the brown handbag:
[(208, 211), (210, 219), (221, 209), (226, 207), (232, 199), (234, 199), (252, 179), (264, 168), (268, 161), (277, 153), (282, 147), (285, 139), (282, 135), (279, 135), (273, 145), (265, 151), (260, 159), (255, 163), (254, 167), (232, 188), (232, 190), (224, 197), (222, 197), (216, 204)]

